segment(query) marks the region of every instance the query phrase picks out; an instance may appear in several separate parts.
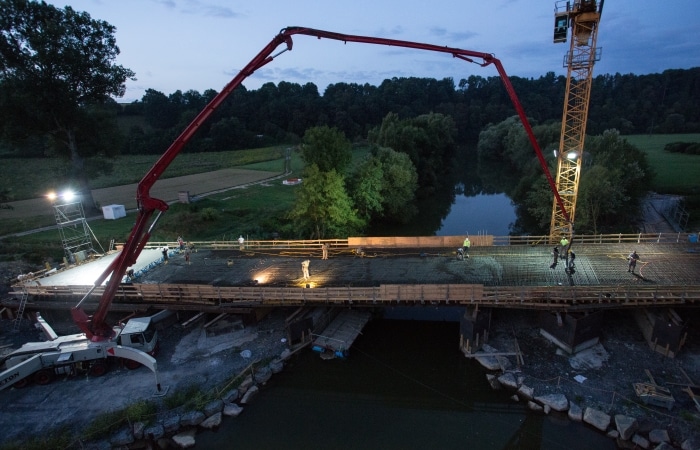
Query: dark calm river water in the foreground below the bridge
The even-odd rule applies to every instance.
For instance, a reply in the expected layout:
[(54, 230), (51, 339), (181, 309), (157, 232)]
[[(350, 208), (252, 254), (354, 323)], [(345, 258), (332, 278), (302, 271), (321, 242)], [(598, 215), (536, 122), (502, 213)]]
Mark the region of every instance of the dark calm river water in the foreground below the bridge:
[(373, 320), (345, 360), (302, 351), (201, 449), (614, 449), (493, 391), (455, 322)]

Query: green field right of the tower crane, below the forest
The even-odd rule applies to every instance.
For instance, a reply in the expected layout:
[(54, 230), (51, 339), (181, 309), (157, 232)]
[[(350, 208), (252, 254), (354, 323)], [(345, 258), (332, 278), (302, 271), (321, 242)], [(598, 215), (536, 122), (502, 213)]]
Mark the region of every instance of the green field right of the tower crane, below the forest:
[(682, 195), (700, 192), (700, 155), (664, 151), (671, 142), (700, 142), (700, 134), (637, 134), (625, 139), (646, 153), (655, 174), (651, 190)]

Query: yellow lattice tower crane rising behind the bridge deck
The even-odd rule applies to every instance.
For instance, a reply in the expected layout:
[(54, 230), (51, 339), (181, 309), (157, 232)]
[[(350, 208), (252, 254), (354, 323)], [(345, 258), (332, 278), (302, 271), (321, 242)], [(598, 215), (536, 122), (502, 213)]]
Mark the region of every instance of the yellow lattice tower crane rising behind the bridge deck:
[(566, 94), (559, 149), (555, 152), (556, 186), (564, 209), (555, 198), (549, 235), (555, 243), (563, 237), (568, 238), (569, 246), (573, 241), (593, 65), (601, 56), (600, 49), (596, 48), (596, 40), (603, 2), (604, 0), (558, 1), (554, 7), (554, 43), (566, 42), (569, 29), (571, 42), (569, 51), (564, 56), (564, 67), (567, 68)]

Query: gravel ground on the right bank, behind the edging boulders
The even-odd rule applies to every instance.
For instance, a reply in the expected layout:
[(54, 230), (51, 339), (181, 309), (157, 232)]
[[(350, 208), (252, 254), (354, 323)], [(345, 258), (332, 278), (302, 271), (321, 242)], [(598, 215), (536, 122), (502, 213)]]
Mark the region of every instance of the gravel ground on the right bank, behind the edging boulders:
[[(688, 383), (700, 383), (700, 330), (696, 328), (700, 311), (682, 312), (690, 324), (688, 339), (673, 359), (650, 349), (629, 312), (605, 312), (599, 344), (573, 357), (540, 334), (535, 314), (497, 311), (489, 337), (489, 345), (501, 352), (514, 351), (517, 340), (524, 365), (518, 367), (515, 357), (509, 357), (511, 370), (524, 377), (535, 396), (562, 393), (583, 409), (635, 417), (640, 431), (667, 429), (678, 447), (686, 439), (700, 438), (700, 413), (682, 391)], [(645, 369), (657, 384), (671, 390), (675, 398), (672, 410), (644, 405), (636, 396), (633, 383), (649, 382)], [(585, 381), (576, 381), (577, 375)], [(696, 442), (700, 445), (700, 440)]]

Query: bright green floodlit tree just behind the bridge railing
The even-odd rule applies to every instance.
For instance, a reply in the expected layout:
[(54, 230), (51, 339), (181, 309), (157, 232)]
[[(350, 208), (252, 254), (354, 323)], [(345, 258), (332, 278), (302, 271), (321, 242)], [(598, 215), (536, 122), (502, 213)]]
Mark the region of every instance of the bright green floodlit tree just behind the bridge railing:
[(300, 236), (351, 236), (365, 226), (345, 192), (343, 177), (335, 170), (321, 172), (312, 164), (305, 169), (303, 179), (289, 213)]

